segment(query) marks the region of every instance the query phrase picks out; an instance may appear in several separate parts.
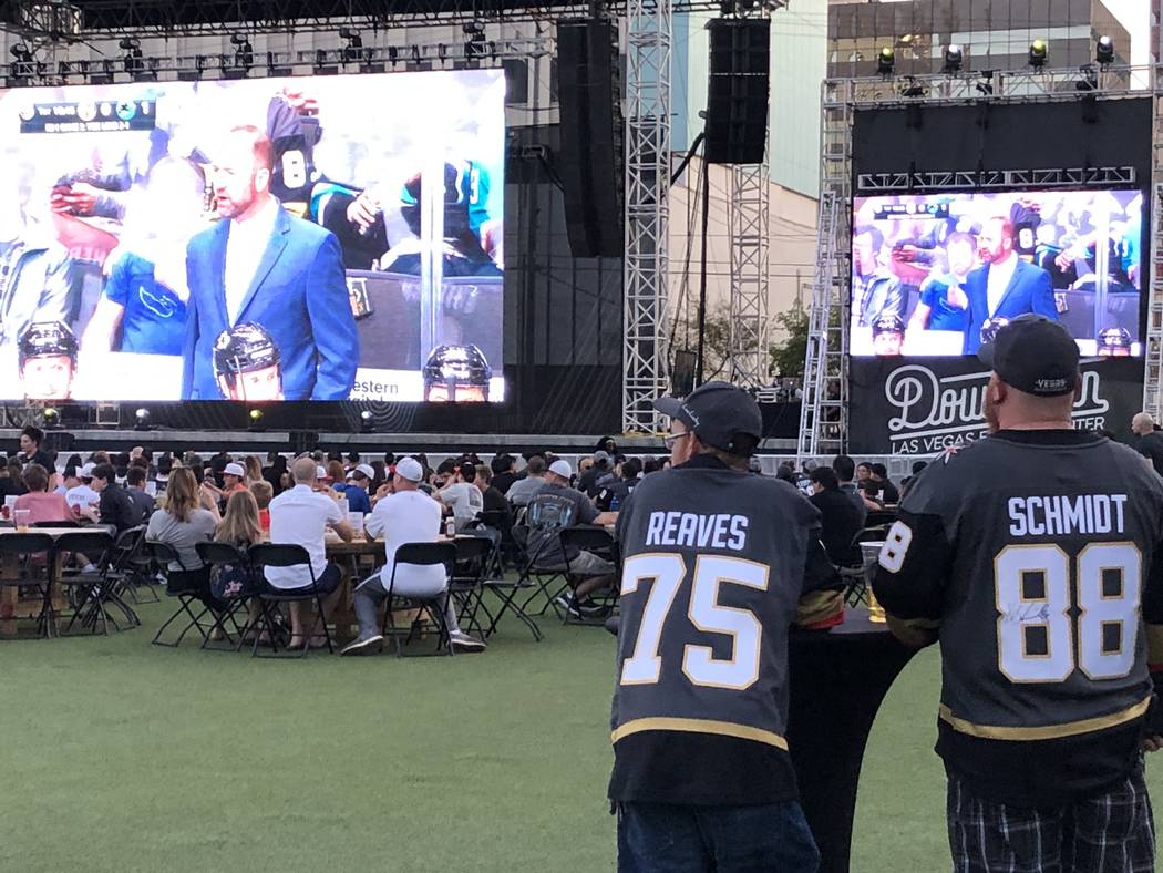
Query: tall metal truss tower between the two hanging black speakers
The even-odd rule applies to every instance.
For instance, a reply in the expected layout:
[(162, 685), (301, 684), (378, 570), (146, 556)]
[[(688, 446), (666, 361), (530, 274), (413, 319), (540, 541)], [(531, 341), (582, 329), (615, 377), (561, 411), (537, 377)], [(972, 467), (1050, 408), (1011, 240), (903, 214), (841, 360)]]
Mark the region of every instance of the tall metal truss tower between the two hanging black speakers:
[(622, 430), (654, 433), (666, 378), (671, 0), (626, 9), (626, 255)]

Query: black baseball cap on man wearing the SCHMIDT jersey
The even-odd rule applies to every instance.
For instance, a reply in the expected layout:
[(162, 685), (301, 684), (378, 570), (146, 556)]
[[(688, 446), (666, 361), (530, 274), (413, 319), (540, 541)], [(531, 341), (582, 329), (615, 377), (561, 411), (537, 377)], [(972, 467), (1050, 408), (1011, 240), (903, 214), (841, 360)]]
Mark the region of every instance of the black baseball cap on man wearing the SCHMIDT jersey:
[(977, 356), (1007, 385), (1036, 397), (1071, 393), (1078, 382), (1078, 345), (1043, 315), (1011, 320)]

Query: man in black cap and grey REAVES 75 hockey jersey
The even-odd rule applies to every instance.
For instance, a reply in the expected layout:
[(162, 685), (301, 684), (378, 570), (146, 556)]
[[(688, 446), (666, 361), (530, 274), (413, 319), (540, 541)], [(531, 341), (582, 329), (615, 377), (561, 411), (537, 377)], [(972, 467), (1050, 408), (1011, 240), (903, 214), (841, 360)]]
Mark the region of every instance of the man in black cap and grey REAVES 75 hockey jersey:
[(647, 476), (618, 520), (618, 868), (811, 873), (784, 734), (806, 567), (830, 579), (819, 512), (748, 474), (762, 428), (741, 389), (711, 382), (655, 407), (672, 419), (673, 467)]

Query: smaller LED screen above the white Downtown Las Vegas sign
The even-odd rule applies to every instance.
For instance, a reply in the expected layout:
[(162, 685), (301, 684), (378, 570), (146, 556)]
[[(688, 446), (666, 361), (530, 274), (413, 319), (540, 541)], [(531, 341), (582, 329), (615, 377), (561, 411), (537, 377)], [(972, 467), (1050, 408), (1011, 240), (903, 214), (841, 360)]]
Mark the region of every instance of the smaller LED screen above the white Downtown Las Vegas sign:
[(1033, 312), (1083, 355), (1140, 355), (1142, 206), (1137, 190), (856, 198), (851, 353), (972, 355)]

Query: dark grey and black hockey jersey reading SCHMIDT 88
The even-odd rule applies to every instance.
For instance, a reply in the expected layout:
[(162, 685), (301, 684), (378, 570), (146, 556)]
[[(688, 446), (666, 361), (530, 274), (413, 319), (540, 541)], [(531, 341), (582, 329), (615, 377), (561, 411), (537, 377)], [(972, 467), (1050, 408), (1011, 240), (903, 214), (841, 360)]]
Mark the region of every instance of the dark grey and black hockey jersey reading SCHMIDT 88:
[(875, 590), (940, 629), (937, 751), (977, 790), (1062, 802), (1126, 774), (1163, 620), (1163, 484), (1125, 446), (1001, 432), (930, 464), (901, 504)]

